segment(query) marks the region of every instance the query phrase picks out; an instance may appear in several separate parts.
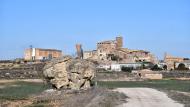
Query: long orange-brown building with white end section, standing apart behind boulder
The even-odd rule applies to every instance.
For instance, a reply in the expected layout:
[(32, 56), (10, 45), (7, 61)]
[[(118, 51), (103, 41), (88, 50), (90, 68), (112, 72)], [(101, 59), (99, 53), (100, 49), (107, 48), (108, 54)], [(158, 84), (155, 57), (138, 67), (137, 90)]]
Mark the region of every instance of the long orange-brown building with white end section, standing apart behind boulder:
[(24, 52), (25, 60), (47, 60), (62, 57), (62, 51), (56, 49), (29, 48)]

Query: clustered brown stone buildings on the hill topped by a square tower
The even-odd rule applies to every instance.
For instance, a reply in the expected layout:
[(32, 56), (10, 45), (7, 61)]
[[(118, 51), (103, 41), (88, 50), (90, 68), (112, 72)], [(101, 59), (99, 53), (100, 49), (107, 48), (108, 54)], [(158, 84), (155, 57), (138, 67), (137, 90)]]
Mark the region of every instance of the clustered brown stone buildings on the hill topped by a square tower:
[(98, 42), (97, 50), (84, 52), (84, 59), (122, 63), (155, 62), (154, 55), (148, 51), (123, 48), (122, 37), (116, 37), (115, 40)]

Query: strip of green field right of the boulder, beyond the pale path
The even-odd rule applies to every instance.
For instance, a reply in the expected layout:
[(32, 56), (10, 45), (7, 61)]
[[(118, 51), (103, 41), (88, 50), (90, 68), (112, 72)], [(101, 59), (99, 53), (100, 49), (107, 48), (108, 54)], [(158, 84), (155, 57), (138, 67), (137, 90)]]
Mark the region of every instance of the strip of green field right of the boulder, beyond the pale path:
[(190, 81), (182, 80), (146, 80), (146, 81), (99, 81), (98, 86), (106, 88), (149, 87), (161, 90), (190, 92)]

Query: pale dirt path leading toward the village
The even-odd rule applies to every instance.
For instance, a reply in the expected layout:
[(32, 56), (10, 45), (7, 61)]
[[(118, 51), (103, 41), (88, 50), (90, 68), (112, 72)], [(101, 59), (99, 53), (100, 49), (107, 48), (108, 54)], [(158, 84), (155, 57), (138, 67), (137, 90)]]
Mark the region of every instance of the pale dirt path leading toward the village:
[(118, 88), (116, 91), (125, 93), (129, 97), (127, 103), (119, 107), (183, 107), (165, 93), (151, 88)]

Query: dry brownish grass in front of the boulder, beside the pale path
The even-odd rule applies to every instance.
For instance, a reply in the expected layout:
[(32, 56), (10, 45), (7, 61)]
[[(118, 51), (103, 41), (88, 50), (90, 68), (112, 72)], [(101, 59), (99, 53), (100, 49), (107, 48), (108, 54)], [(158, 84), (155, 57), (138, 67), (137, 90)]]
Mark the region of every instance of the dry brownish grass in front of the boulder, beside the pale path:
[(93, 88), (86, 91), (54, 91), (42, 93), (33, 105), (54, 104), (53, 107), (115, 107), (124, 103), (124, 94), (103, 88)]

